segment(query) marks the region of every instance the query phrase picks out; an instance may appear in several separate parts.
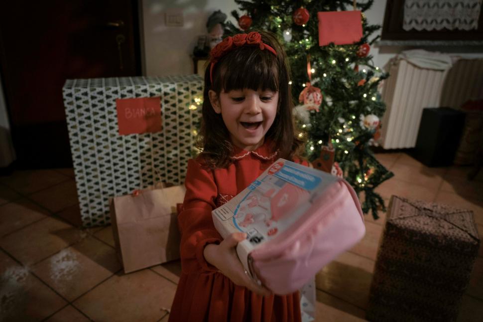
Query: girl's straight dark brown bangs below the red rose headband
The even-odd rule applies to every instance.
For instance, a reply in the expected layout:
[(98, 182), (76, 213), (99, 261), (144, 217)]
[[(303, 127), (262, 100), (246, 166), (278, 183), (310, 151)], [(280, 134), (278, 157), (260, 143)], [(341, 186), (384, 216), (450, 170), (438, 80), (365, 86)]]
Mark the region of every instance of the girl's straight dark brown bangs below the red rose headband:
[(229, 92), (249, 88), (254, 91), (279, 91), (279, 75), (276, 57), (268, 50), (245, 47), (227, 55), (221, 64), (223, 84), (220, 90)]

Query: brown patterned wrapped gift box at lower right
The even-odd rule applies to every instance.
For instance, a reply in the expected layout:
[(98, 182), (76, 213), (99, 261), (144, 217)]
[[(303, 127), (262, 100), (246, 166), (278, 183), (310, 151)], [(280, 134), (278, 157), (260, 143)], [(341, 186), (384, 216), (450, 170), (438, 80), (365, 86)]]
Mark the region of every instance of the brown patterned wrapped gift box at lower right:
[(456, 321), (480, 239), (473, 212), (392, 196), (369, 321)]

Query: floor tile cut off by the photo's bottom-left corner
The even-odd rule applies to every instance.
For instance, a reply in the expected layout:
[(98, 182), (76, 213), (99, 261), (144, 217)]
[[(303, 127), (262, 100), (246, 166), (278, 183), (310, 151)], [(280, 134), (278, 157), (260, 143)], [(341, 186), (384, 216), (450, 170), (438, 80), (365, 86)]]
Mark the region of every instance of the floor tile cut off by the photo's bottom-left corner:
[(0, 250), (1, 321), (41, 321), (67, 302)]

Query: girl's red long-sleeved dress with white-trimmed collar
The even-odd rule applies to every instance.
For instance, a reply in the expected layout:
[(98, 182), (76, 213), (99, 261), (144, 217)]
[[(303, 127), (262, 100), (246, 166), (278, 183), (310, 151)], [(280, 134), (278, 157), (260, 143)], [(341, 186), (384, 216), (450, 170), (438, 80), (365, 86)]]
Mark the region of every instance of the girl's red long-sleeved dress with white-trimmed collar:
[(262, 297), (235, 285), (204, 256), (204, 247), (220, 243), (211, 211), (240, 193), (275, 161), (267, 144), (232, 156), (228, 168), (206, 169), (202, 159), (188, 161), (181, 230), (181, 268), (170, 322), (299, 322), (299, 294)]

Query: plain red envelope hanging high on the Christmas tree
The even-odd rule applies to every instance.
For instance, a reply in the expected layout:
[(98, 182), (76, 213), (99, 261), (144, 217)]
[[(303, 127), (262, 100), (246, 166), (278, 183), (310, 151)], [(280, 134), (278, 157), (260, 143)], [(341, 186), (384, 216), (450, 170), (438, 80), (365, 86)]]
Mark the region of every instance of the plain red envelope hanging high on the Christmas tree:
[(336, 45), (352, 44), (361, 40), (361, 11), (322, 11), (319, 17), (319, 46), (333, 42)]

